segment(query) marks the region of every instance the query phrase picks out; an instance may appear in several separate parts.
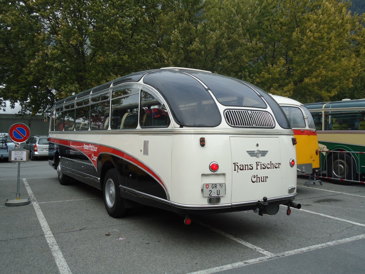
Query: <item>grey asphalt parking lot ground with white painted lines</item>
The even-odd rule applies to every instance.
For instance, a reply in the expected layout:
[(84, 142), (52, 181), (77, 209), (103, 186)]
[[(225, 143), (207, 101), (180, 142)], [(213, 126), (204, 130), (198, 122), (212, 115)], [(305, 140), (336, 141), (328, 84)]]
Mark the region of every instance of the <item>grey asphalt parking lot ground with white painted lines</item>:
[(0, 161), (1, 273), (364, 273), (365, 185), (297, 180), (287, 216), (254, 212), (184, 218), (154, 208), (110, 217), (101, 191), (58, 183), (46, 159)]

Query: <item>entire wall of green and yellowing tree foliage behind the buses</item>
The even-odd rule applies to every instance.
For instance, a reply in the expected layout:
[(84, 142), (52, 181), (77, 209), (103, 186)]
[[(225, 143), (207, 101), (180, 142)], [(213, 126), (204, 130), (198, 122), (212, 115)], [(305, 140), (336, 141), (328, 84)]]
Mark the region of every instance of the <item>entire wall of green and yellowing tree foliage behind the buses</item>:
[(0, 0), (0, 104), (46, 113), (71, 94), (165, 66), (236, 77), (303, 103), (364, 98), (365, 14), (349, 13), (350, 4)]

